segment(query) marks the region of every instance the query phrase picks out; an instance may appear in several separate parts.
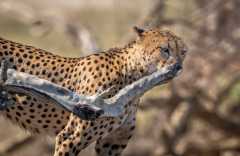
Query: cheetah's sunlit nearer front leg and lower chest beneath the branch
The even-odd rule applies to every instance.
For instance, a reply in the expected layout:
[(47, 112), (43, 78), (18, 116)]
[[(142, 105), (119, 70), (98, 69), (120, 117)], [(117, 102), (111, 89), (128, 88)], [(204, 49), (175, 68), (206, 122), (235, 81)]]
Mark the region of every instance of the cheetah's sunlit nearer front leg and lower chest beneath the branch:
[(81, 150), (120, 125), (119, 120), (114, 118), (87, 121), (71, 114), (66, 127), (57, 135), (54, 156), (77, 156)]

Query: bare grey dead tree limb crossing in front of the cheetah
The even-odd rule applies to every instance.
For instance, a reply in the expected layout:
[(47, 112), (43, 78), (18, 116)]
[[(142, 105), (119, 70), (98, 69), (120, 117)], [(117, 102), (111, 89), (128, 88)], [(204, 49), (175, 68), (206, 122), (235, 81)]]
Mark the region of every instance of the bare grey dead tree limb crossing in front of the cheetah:
[(67, 88), (40, 79), (34, 75), (9, 69), (7, 65), (2, 63), (0, 73), (5, 73), (6, 75), (0, 76), (4, 78), (1, 80), (1, 89), (4, 92), (1, 96), (1, 99), (3, 99), (1, 101), (1, 108), (4, 109), (14, 103), (11, 101), (11, 97), (8, 96), (9, 94), (6, 94), (7, 92), (37, 96), (42, 102), (60, 105), (85, 120), (94, 120), (98, 117), (119, 117), (124, 113), (124, 106), (128, 102), (136, 97), (140, 97), (154, 86), (173, 79), (178, 73), (176, 66), (173, 65), (168, 69), (163, 69), (143, 77), (121, 89), (114, 97), (103, 99), (103, 95), (109, 92), (111, 88), (93, 96), (79, 95), (76, 92), (72, 92)]

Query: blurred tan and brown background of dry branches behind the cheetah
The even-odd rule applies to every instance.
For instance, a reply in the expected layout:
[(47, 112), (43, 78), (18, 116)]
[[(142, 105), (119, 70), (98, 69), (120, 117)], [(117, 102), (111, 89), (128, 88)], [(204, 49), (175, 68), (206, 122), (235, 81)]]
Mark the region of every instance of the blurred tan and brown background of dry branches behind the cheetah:
[[(239, 0), (0, 0), (0, 36), (70, 57), (121, 46), (132, 27), (189, 46), (184, 72), (142, 98), (124, 156), (240, 156)], [(0, 119), (0, 156), (50, 156), (54, 140)], [(93, 146), (81, 155), (93, 156)]]

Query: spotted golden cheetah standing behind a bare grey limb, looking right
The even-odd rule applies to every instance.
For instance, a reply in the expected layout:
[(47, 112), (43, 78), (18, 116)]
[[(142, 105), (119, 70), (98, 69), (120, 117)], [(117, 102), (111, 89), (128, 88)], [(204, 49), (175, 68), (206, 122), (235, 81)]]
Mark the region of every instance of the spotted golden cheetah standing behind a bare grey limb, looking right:
[[(134, 27), (137, 38), (80, 58), (66, 58), (42, 49), (0, 38), (0, 62), (7, 60), (17, 71), (36, 75), (82, 95), (114, 89), (114, 96), (128, 84), (169, 65), (182, 63), (187, 52), (183, 40), (169, 30)], [(33, 133), (56, 136), (54, 156), (77, 156), (96, 142), (98, 156), (120, 156), (135, 129), (139, 98), (126, 105), (118, 118), (82, 120), (62, 107), (41, 103), (29, 95), (12, 95), (15, 105), (2, 111), (11, 122)]]

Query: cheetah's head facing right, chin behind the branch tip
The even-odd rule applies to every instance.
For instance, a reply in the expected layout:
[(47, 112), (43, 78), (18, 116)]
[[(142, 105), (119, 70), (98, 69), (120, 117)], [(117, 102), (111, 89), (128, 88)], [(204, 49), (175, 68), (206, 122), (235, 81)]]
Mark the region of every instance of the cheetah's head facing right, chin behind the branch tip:
[(182, 39), (168, 30), (158, 28), (144, 30), (134, 27), (138, 35), (136, 45), (141, 49), (140, 57), (149, 74), (176, 65), (178, 73), (187, 52)]

